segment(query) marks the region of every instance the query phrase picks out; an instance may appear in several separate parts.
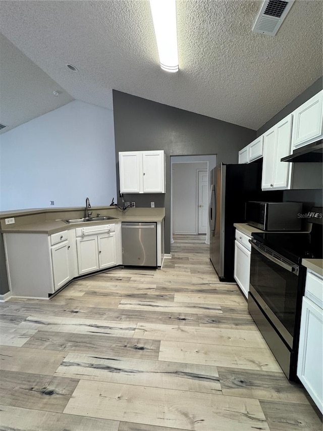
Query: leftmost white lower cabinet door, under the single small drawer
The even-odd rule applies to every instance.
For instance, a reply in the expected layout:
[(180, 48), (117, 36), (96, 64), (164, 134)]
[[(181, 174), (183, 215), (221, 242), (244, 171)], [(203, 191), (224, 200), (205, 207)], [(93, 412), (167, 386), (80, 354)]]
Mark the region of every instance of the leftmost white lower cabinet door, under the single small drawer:
[(71, 279), (69, 248), (70, 246), (67, 241), (51, 247), (52, 275), (55, 291)]

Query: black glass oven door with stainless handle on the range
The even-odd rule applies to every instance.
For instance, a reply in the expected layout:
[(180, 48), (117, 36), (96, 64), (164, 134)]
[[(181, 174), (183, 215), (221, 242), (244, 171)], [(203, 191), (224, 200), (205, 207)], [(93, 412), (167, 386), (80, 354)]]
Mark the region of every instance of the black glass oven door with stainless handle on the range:
[(250, 240), (250, 244), (250, 293), (285, 343), (293, 349), (299, 267), (256, 240)]

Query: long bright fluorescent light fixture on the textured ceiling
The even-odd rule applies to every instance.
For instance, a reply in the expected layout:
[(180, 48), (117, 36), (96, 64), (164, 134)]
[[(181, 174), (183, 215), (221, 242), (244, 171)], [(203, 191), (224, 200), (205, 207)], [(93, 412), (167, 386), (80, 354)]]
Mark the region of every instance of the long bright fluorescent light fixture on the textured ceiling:
[(150, 0), (161, 69), (178, 71), (175, 0)]

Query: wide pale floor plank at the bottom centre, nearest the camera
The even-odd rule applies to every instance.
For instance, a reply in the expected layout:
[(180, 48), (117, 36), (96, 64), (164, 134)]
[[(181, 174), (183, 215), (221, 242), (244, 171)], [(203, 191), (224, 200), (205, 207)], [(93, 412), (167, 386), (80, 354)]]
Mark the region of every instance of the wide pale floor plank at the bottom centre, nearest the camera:
[(80, 380), (64, 412), (210, 431), (268, 430), (258, 400)]

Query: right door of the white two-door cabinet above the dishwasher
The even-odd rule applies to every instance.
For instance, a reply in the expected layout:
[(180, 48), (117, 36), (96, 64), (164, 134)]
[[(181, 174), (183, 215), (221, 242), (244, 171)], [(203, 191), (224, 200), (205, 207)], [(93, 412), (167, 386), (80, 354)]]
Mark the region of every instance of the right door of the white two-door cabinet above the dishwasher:
[(164, 151), (142, 153), (143, 193), (165, 193)]

